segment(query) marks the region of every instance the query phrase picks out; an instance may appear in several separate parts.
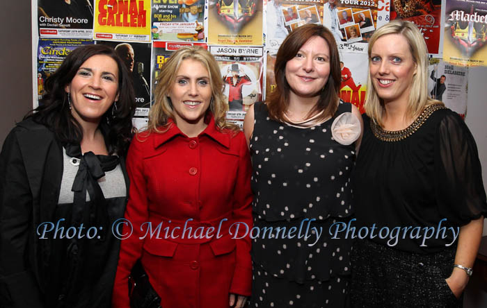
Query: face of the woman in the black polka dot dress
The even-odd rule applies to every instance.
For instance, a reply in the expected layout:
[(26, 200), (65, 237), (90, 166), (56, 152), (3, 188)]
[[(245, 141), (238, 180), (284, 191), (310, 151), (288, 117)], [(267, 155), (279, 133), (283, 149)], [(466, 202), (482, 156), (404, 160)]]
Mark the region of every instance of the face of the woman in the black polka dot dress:
[(330, 76), (330, 49), (323, 37), (313, 36), (287, 61), (285, 76), (290, 98), (316, 97)]

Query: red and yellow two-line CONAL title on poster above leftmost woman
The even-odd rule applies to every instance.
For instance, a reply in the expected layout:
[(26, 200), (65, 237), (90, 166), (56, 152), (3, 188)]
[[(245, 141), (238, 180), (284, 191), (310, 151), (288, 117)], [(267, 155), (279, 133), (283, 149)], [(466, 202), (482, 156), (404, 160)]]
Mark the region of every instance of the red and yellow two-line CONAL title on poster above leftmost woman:
[(98, 12), (101, 26), (145, 27), (147, 12), (143, 0), (100, 0)]

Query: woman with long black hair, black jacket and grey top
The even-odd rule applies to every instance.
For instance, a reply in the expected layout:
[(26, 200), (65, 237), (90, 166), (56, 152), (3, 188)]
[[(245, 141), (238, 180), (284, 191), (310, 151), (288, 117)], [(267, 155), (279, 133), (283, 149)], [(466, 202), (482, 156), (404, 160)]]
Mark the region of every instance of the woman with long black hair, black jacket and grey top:
[(109, 308), (129, 192), (134, 89), (104, 45), (74, 49), (0, 153), (0, 306)]

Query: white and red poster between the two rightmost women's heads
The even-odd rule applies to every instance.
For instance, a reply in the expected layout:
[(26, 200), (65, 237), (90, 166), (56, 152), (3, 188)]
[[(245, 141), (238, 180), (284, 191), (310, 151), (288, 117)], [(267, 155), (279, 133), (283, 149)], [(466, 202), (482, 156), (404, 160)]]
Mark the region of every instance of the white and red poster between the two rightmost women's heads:
[(340, 99), (353, 103), (364, 113), (365, 97), (367, 96), (367, 53), (340, 53)]

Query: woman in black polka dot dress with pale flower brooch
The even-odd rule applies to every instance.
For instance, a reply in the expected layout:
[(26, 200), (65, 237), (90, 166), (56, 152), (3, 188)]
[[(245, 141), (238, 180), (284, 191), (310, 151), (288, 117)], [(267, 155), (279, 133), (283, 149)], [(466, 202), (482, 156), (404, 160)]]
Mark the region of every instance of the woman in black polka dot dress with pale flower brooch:
[(260, 230), (250, 306), (346, 307), (351, 241), (328, 230), (353, 213), (349, 180), (362, 118), (339, 99), (339, 54), (323, 26), (293, 31), (274, 73), (276, 89), (244, 121)]

